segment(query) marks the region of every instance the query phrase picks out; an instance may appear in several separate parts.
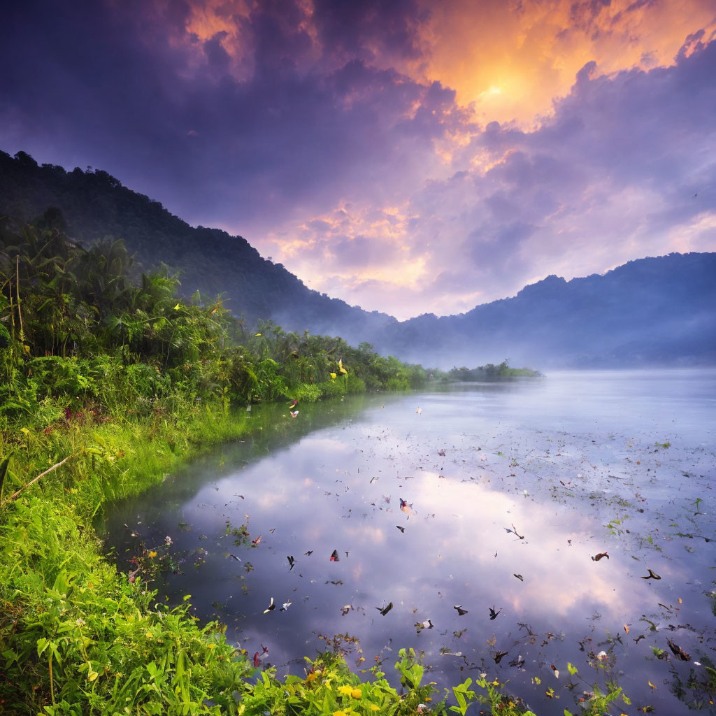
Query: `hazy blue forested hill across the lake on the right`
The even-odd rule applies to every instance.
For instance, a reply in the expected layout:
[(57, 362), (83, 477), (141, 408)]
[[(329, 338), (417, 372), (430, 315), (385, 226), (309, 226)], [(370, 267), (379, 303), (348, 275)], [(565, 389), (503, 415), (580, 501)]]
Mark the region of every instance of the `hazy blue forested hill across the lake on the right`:
[(426, 314), (376, 341), (403, 360), (537, 368), (716, 364), (716, 253), (629, 261), (604, 276), (548, 276), (459, 316)]

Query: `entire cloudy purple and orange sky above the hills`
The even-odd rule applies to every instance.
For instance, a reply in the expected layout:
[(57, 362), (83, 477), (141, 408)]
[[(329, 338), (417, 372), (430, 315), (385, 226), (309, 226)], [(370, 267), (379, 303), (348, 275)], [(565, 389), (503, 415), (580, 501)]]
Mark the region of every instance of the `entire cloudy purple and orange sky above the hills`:
[(1, 150), (399, 319), (716, 251), (715, 0), (28, 0), (0, 62)]

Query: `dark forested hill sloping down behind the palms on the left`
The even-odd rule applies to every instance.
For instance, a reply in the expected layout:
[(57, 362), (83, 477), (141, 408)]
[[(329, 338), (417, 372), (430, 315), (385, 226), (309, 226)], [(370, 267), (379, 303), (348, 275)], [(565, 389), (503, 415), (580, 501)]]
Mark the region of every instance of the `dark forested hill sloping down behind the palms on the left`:
[(225, 294), (226, 307), (249, 324), (274, 319), (287, 330), (339, 333), (358, 344), (395, 322), (312, 291), (241, 236), (193, 228), (105, 171), (68, 172), (38, 165), (24, 152), (13, 158), (0, 151), (0, 215), (29, 222), (49, 207), (59, 209), (73, 238), (86, 245), (105, 236), (123, 238), (144, 269), (158, 263), (180, 269), (183, 294)]

